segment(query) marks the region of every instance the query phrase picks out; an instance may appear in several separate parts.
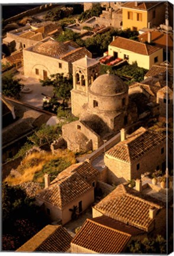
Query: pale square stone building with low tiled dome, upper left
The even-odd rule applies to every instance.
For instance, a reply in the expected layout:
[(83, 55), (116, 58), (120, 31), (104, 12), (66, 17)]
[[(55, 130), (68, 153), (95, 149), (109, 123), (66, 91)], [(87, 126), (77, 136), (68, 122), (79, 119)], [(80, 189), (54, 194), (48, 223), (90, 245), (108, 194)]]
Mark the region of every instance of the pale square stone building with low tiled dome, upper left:
[(34, 46), (23, 50), (24, 75), (37, 79), (46, 79), (55, 73), (72, 73), (72, 62), (92, 54), (72, 41), (65, 43), (53, 39), (44, 39)]

